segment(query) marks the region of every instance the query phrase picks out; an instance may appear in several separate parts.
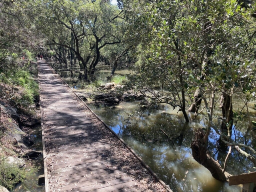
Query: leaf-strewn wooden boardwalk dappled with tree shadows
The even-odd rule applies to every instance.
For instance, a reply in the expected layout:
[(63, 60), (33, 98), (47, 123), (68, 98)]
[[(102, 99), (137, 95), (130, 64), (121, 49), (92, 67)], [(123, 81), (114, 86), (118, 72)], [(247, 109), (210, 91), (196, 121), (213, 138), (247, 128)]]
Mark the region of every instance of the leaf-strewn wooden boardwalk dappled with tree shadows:
[(49, 191), (166, 191), (46, 62), (38, 75)]

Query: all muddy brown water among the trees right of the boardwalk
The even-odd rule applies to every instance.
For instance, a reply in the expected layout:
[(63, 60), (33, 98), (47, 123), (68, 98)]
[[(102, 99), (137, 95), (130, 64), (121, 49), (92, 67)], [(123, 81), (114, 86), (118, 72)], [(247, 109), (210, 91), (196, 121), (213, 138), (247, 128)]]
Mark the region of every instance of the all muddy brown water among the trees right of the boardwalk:
[[(79, 69), (73, 72), (61, 66), (55, 68), (56, 72), (74, 89), (84, 88), (94, 80), (107, 82), (106, 77), (111, 70), (103, 66), (98, 68), (96, 74), (89, 76), (90, 81), (78, 80)], [(129, 74), (128, 70), (117, 70), (116, 74)], [(84, 90), (86, 91), (86, 90)], [(234, 99), (234, 108), (241, 108), (242, 102)], [(106, 123), (116, 134), (128, 143), (140, 157), (160, 176), (174, 192), (240, 192), (241, 186), (228, 186), (228, 183), (219, 182), (212, 178), (210, 172), (198, 164), (193, 157), (190, 148), (197, 128), (204, 128), (206, 124), (206, 111), (203, 111), (190, 123), (184, 121), (182, 112), (172, 109), (169, 105), (162, 105), (154, 110), (145, 110), (139, 107), (138, 102), (126, 102), (117, 106), (95, 106), (88, 102), (90, 108)], [(201, 106), (204, 106), (202, 103)], [(178, 112), (178, 113), (177, 113)], [(255, 113), (251, 110), (251, 117)], [(221, 115), (220, 108), (216, 107), (216, 116)], [(189, 114), (193, 118), (193, 114)], [(163, 129), (174, 141), (172, 145), (166, 136), (160, 131)], [(238, 142), (251, 144), (254, 148), (255, 141), (250, 137), (245, 138), (246, 126), (237, 124), (232, 138)], [(212, 131), (208, 142), (208, 149), (215, 159), (218, 159), (223, 167), (227, 152), (217, 149), (219, 136)], [(255, 171), (253, 164), (238, 153), (232, 152), (228, 159), (227, 172), (230, 174), (242, 174)]]

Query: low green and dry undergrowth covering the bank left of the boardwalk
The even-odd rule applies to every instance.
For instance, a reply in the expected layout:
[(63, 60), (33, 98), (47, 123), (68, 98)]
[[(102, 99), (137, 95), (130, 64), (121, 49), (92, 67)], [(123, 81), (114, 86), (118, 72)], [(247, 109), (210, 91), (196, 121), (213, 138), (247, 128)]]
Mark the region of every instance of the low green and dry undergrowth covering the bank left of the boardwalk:
[[(33, 114), (35, 98), (39, 97), (39, 86), (28, 68), (35, 59), (28, 50), (22, 53), (8, 53), (0, 63), (0, 100), (17, 108), (24, 114)], [(22, 158), (24, 151), (10, 140), (6, 125), (15, 122), (8, 114), (0, 110), (0, 185), (10, 190), (18, 182), (29, 186), (28, 178), (35, 178), (38, 168), (26, 161), (26, 166), (19, 168), (6, 161), (8, 156)]]

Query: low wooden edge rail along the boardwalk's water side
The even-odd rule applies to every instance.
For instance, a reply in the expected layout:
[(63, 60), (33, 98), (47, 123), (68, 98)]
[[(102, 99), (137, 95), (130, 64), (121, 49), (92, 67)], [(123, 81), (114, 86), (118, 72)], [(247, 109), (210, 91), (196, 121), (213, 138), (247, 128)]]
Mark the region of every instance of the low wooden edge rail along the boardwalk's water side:
[[(49, 65), (49, 64), (48, 64)], [(50, 66), (50, 65), (49, 65)], [(86, 108), (88, 108), (88, 110), (90, 110), (90, 112), (92, 112), (92, 114), (98, 119), (100, 120), (100, 122), (102, 122), (102, 124), (104, 124), (104, 126), (106, 126), (106, 128), (108, 128), (108, 130), (110, 130), (110, 132), (112, 132), (112, 134), (114, 134), (114, 136), (116, 136), (116, 138), (118, 138), (118, 140), (120, 140), (124, 146), (126, 146), (126, 148), (140, 161), (140, 163), (148, 170), (148, 172), (150, 172), (155, 178), (156, 180), (162, 185), (164, 186), (164, 188), (166, 188), (166, 190), (168, 192), (172, 192), (172, 190), (170, 189), (170, 187), (168, 185), (165, 184), (165, 182), (163, 180), (160, 179), (160, 177), (142, 160), (142, 158), (140, 158), (140, 156), (138, 156), (138, 154), (132, 149), (130, 148), (130, 146), (128, 146), (128, 144), (122, 139), (120, 138), (103, 120), (101, 120), (99, 118), (98, 115), (96, 115), (91, 109), (90, 107), (76, 94), (76, 92), (74, 92), (74, 90), (62, 79), (62, 77), (52, 68), (52, 66), (50, 66), (50, 68), (54, 71), (55, 74), (57, 74), (60, 79), (64, 82), (64, 84), (66, 84), (70, 90), (72, 90), (72, 92), (78, 97), (78, 99), (80, 101), (82, 101), (82, 103), (86, 106)]]

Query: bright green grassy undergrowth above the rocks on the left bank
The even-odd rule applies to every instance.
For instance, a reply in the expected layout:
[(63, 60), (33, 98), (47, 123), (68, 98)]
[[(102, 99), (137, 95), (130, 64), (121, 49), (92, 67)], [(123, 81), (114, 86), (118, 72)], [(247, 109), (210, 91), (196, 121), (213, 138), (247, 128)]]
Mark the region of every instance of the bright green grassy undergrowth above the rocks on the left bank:
[[(24, 52), (27, 58), (33, 60), (30, 52), (27, 50)], [(19, 59), (12, 54), (12, 59), (6, 62), (9, 65), (0, 68), (0, 83), (6, 84), (5, 90), (0, 91), (0, 98), (9, 100), (12, 106), (18, 109), (30, 108), (34, 104), (34, 99), (39, 97), (38, 83), (28, 70), (31, 60)]]

